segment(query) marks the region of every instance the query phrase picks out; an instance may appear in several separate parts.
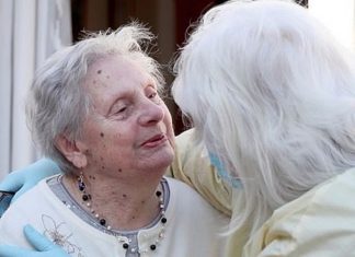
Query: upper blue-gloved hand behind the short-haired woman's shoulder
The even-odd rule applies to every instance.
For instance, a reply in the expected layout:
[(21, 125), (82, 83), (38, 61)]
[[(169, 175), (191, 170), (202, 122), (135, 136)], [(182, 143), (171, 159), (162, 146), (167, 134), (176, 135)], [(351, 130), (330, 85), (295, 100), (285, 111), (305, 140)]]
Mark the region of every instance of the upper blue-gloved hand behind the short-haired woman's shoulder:
[[(0, 190), (16, 192), (11, 200), (11, 202), (13, 202), (41, 179), (58, 173), (60, 173), (60, 170), (55, 162), (49, 159), (42, 159), (24, 168), (10, 173), (4, 180), (0, 183)], [(2, 205), (4, 203), (0, 202), (0, 211), (2, 209), (5, 210), (5, 207)]]

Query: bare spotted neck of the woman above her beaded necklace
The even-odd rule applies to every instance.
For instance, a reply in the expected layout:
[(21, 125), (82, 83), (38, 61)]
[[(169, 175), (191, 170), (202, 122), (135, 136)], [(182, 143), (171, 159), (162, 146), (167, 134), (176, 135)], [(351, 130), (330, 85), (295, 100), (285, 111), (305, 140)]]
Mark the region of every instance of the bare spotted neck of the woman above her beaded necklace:
[(140, 179), (135, 183), (104, 175), (85, 176), (83, 172), (85, 192), (91, 196), (89, 203), (82, 200), (83, 192), (79, 190), (78, 176), (65, 175), (64, 185), (88, 212), (94, 210), (105, 219), (110, 227), (137, 230), (149, 224), (160, 213), (159, 197), (156, 196), (160, 179), (161, 177), (150, 177), (150, 180)]

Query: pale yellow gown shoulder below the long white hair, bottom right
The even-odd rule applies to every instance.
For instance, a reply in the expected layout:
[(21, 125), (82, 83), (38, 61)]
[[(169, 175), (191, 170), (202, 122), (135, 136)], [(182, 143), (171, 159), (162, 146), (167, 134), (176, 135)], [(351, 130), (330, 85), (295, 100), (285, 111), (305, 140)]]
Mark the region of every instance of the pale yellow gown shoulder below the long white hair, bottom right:
[(355, 170), (314, 187), (277, 209), (251, 237), (245, 253), (253, 254), (245, 256), (346, 256), (355, 253), (354, 195)]

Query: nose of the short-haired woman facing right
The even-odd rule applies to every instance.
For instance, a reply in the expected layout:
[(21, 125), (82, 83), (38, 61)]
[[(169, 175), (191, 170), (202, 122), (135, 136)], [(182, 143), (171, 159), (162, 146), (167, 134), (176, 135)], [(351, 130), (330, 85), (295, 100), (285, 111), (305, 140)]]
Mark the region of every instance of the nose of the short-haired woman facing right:
[(141, 108), (141, 114), (139, 116), (139, 122), (141, 125), (150, 125), (159, 122), (164, 117), (164, 104), (157, 104), (149, 101)]

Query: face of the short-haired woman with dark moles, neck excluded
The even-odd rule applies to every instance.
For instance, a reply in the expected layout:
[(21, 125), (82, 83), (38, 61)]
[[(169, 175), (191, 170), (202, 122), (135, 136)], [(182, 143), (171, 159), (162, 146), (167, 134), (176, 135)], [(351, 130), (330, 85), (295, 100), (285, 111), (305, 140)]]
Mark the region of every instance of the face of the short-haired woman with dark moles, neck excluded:
[(124, 57), (108, 57), (90, 67), (83, 86), (93, 105), (81, 140), (88, 166), (127, 173), (170, 165), (171, 115), (149, 73)]

